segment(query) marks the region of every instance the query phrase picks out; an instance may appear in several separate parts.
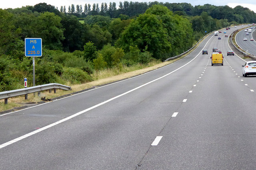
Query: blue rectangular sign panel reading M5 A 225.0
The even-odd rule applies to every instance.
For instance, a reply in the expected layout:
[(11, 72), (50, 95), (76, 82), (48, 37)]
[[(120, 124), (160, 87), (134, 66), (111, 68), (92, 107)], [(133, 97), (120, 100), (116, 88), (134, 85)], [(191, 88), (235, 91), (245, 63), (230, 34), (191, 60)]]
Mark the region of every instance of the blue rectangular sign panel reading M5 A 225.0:
[(25, 56), (42, 56), (42, 38), (25, 38)]

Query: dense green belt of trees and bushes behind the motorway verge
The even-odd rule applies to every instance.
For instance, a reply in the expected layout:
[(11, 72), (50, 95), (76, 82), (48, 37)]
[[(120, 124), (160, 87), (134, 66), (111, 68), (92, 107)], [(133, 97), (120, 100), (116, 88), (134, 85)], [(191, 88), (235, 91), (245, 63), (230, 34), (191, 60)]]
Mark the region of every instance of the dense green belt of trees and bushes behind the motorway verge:
[(26, 37), (43, 41), (43, 56), (36, 58), (37, 85), (79, 84), (92, 81), (95, 70), (163, 61), (192, 47), (204, 31), (255, 18), (241, 6), (187, 3), (124, 1), (118, 8), (113, 2), (60, 10), (40, 3), (0, 9), (0, 91), (22, 88), (24, 77), (32, 82), (32, 59), (24, 57)]

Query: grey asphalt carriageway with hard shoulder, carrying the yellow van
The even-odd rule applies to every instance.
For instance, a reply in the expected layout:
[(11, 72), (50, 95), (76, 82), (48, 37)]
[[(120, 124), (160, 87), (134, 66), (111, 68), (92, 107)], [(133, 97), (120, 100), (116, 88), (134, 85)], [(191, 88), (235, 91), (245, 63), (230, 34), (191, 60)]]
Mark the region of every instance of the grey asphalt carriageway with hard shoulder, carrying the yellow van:
[(256, 76), (223, 32), (163, 68), (0, 115), (0, 169), (255, 169)]

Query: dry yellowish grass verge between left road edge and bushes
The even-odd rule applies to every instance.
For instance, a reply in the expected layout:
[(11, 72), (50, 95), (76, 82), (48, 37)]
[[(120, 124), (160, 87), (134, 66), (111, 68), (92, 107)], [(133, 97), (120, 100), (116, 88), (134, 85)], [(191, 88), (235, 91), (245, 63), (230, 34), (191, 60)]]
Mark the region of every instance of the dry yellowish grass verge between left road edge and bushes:
[[(198, 43), (198, 45), (200, 45), (200, 43)], [(196, 45), (196, 47), (198, 47), (198, 45)], [(194, 49), (196, 49), (196, 47), (194, 47)], [(35, 96), (34, 96), (34, 94), (28, 94), (27, 100), (25, 100), (24, 96), (8, 98), (7, 105), (4, 104), (4, 99), (3, 99), (3, 100), (0, 100), (0, 111), (6, 111), (6, 110), (10, 110), (10, 109), (15, 110), (21, 106), (27, 106), (29, 104), (37, 104), (38, 102), (42, 101), (41, 98), (45, 98), (46, 100), (52, 99), (52, 98), (64, 96), (67, 94), (71, 94), (73, 92), (78, 92), (78, 91), (81, 91), (84, 89), (92, 88), (95, 86), (101, 86), (103, 84), (108, 84), (108, 83), (115, 82), (118, 80), (123, 80), (126, 78), (131, 78), (136, 75), (144, 74), (146, 72), (149, 72), (149, 71), (155, 70), (157, 68), (166, 66), (168, 64), (174, 63), (175, 61), (178, 61), (178, 60), (186, 57), (190, 53), (192, 53), (192, 51), (194, 49), (192, 49), (188, 53), (182, 55), (181, 57), (171, 60), (171, 61), (166, 61), (166, 62), (152, 61), (148, 64), (137, 64), (137, 65), (131, 66), (131, 67), (123, 67), (121, 70), (117, 70), (115, 68), (109, 68), (106, 70), (95, 71), (92, 74), (92, 77), (94, 78), (94, 81), (92, 81), (92, 82), (88, 82), (85, 84), (74, 84), (74, 85), (67, 82), (66, 85), (71, 86), (71, 88), (72, 88), (71, 91), (56, 90), (57, 92), (55, 94), (53, 92), (49, 93), (49, 91), (42, 91), (40, 93), (40, 97), (37, 96), (37, 93), (35, 93)]]

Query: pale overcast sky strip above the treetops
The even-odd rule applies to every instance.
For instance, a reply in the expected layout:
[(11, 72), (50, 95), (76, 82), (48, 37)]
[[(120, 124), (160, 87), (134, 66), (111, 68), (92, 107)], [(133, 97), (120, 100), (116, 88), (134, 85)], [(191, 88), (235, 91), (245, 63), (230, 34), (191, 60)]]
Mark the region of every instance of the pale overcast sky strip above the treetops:
[[(38, 3), (45, 2), (46, 4), (50, 4), (52, 6), (58, 7), (60, 9), (60, 6), (66, 6), (66, 9), (68, 9), (68, 6), (71, 6), (71, 4), (76, 5), (82, 5), (84, 7), (84, 4), (101, 4), (102, 2), (106, 2), (109, 4), (109, 2), (116, 2), (116, 6), (118, 7), (119, 2), (124, 2), (124, 0), (1, 0), (0, 8), (21, 8), (22, 6), (34, 6)], [(130, 2), (131, 0), (128, 0)], [(151, 0), (151, 2), (154, 2), (155, 0)], [(195, 5), (204, 5), (204, 4), (211, 4), (215, 6), (224, 6), (228, 5), (231, 8), (234, 8), (238, 5), (241, 5), (243, 7), (249, 8), (250, 10), (253, 10), (256, 13), (256, 1), (255, 0), (246, 0), (246, 3), (241, 3), (241, 0), (232, 0), (232, 1), (226, 1), (226, 0), (212, 0), (212, 1), (206, 1), (206, 0), (157, 0), (158, 2), (169, 2), (169, 3), (181, 3), (186, 2), (192, 4), (192, 6)], [(150, 0), (132, 0), (132, 2), (150, 2)]]

